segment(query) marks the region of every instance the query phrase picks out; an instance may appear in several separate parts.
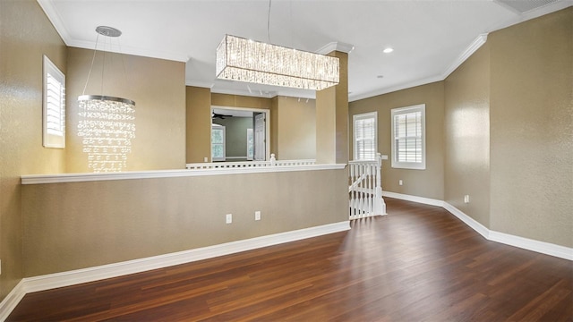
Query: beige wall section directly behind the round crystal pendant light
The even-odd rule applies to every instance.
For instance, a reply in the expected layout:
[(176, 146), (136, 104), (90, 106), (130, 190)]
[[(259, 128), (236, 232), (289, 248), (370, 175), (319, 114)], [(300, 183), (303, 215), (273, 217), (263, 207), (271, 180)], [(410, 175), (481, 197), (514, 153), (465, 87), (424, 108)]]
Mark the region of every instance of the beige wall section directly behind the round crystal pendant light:
[[(95, 32), (94, 32), (95, 34)], [(94, 35), (95, 37), (95, 35)], [(77, 97), (88, 80), (93, 50), (68, 48), (67, 172), (92, 172), (77, 135)], [(135, 55), (98, 52), (85, 94), (135, 101), (135, 139), (127, 171), (183, 169), (185, 166), (185, 64)]]

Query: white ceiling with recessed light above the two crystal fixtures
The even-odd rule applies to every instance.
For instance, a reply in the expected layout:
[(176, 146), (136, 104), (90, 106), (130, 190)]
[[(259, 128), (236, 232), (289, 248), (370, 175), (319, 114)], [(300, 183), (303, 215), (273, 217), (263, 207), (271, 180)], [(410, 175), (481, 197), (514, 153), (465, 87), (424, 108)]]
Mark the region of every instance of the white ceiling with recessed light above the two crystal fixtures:
[[(272, 44), (312, 52), (350, 44), (350, 101), (443, 80), (487, 33), (573, 5), (573, 0), (515, 1), (533, 4), (520, 13), (501, 2), (38, 0), (66, 45), (93, 49), (96, 27), (111, 26), (123, 31), (119, 44), (114, 40), (105, 47), (100, 38), (98, 50), (185, 62), (186, 85), (218, 93), (314, 97), (310, 90), (216, 80), (215, 49), (225, 34), (270, 38)], [(530, 9), (539, 4), (544, 5)], [(385, 47), (394, 52), (383, 54)]]

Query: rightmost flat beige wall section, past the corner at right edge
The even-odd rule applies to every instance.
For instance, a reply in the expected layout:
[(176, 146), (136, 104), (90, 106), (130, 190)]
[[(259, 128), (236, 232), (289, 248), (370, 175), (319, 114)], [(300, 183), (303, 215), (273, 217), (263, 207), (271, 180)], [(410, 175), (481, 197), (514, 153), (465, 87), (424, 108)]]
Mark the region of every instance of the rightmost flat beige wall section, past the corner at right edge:
[(491, 229), (573, 247), (573, 7), (488, 42)]

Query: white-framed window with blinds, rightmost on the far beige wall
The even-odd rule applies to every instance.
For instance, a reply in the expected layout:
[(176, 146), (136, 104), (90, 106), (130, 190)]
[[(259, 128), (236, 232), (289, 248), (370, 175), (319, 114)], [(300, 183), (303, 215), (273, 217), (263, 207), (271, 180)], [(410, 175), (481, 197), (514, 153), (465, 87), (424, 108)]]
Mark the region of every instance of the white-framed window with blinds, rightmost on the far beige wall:
[(426, 168), (425, 110), (425, 104), (392, 109), (392, 167)]

